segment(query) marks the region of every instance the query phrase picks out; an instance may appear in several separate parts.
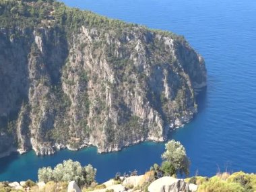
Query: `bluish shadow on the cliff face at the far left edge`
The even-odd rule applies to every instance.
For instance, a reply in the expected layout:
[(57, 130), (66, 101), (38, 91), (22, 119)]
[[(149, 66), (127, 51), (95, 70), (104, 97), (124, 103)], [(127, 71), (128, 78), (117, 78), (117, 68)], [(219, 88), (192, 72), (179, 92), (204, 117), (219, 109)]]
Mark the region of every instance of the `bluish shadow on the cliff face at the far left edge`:
[(18, 119), (22, 105), (28, 102), (30, 42), (20, 37), (11, 40), (10, 36), (3, 33), (0, 34), (0, 40), (0, 127), (11, 129), (13, 127), (10, 124), (8, 128), (8, 123)]

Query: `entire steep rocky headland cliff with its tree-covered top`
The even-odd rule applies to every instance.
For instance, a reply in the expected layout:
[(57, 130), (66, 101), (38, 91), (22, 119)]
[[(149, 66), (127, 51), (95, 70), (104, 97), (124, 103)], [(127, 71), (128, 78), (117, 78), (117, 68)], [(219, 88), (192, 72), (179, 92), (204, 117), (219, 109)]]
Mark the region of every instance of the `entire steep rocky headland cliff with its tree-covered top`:
[(51, 0), (0, 0), (2, 155), (164, 141), (205, 86), (203, 58), (182, 36)]

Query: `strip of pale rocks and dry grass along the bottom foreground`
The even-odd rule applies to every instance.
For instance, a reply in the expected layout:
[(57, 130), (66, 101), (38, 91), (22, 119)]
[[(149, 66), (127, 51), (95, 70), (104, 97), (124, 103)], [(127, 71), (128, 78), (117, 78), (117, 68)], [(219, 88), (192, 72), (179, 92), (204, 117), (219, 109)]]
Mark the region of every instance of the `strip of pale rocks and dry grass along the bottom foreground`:
[[(36, 185), (29, 186), (26, 185), (26, 182), (22, 181), (20, 183), (13, 182), (13, 183), (0, 183), (2, 189), (4, 190), (5, 187), (10, 187), (11, 189), (20, 190), (20, 191), (49, 191), (49, 189), (56, 190), (63, 189), (67, 192), (81, 192), (81, 191), (92, 191), (92, 192), (105, 192), (105, 191), (113, 191), (113, 192), (142, 192), (142, 191), (149, 191), (149, 192), (196, 192), (197, 185), (191, 183), (185, 183), (183, 179), (175, 179), (173, 177), (162, 177), (153, 181), (152, 183), (144, 183), (145, 180), (143, 179), (143, 175), (138, 176), (131, 176), (123, 178), (123, 182), (120, 181), (117, 184), (117, 181), (114, 179), (110, 179), (101, 185), (96, 185), (94, 187), (84, 186), (84, 188), (79, 188), (75, 181), (70, 181), (67, 185), (62, 182), (62, 186), (59, 185), (61, 183), (54, 183), (53, 181), (49, 181), (48, 183), (39, 182)], [(147, 181), (146, 181), (147, 182)], [(149, 185), (149, 186), (148, 186)], [(148, 186), (148, 187), (146, 187)]]

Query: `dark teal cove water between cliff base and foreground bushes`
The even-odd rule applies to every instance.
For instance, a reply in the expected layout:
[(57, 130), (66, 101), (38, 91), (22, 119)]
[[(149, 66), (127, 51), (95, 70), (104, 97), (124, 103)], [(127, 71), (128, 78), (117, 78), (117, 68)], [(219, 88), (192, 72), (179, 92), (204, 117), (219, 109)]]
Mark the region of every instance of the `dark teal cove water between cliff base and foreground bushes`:
[[(126, 148), (121, 152), (108, 154), (97, 154), (94, 147), (72, 152), (61, 150), (53, 156), (38, 157), (34, 152), (27, 154), (12, 154), (0, 159), (0, 181), (26, 181), (28, 179), (37, 180), (37, 170), (42, 166), (55, 166), (63, 160), (76, 160), (82, 165), (92, 164), (97, 168), (98, 182), (103, 182), (115, 177), (117, 172), (127, 172), (138, 170), (143, 173), (154, 162), (160, 162), (160, 155), (164, 151), (164, 145), (160, 143), (145, 142), (131, 148)], [(148, 158), (146, 161), (145, 158)], [(149, 160), (150, 158), (150, 160)]]

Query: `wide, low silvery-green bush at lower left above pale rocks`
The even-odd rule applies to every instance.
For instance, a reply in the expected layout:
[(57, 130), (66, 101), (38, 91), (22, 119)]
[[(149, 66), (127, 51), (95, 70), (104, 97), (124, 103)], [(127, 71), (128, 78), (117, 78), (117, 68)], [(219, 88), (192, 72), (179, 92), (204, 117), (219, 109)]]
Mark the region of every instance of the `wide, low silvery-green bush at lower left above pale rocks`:
[(38, 170), (38, 180), (44, 181), (44, 183), (75, 181), (79, 186), (90, 186), (95, 181), (95, 176), (96, 168), (93, 168), (92, 165), (88, 164), (88, 166), (83, 167), (79, 162), (72, 160), (64, 160), (62, 164), (57, 164), (54, 169), (44, 167)]

